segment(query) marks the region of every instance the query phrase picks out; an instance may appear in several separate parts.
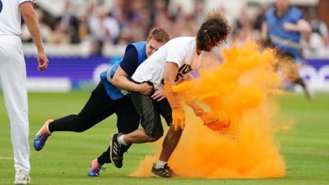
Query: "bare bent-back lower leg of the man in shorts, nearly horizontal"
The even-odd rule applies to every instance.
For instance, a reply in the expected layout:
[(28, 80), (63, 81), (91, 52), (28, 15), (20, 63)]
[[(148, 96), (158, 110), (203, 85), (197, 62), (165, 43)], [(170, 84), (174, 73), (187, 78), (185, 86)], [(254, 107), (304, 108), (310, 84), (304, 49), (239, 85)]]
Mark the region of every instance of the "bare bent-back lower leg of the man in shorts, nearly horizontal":
[(125, 134), (123, 139), (125, 140), (125, 143), (131, 144), (131, 143), (147, 143), (147, 142), (154, 142), (158, 140), (160, 137), (151, 138), (150, 136), (147, 136), (143, 129), (135, 130), (134, 132), (130, 132), (129, 134)]

